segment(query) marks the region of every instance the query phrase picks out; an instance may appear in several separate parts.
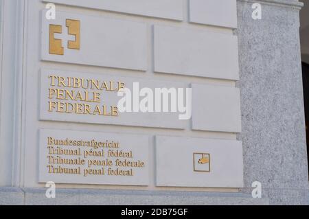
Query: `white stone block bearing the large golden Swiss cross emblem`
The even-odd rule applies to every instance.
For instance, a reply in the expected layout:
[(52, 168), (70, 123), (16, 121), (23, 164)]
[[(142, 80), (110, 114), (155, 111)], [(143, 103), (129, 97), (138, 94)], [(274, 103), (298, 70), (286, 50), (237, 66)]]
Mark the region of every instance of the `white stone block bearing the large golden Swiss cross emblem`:
[[(68, 41), (75, 36), (67, 34), (66, 20), (80, 21), (80, 49), (68, 49)], [(56, 20), (47, 20), (43, 11), (42, 60), (80, 65), (147, 70), (147, 29), (144, 23), (106, 19), (100, 16), (72, 14), (57, 11)], [(49, 25), (61, 25), (63, 55), (49, 53)]]

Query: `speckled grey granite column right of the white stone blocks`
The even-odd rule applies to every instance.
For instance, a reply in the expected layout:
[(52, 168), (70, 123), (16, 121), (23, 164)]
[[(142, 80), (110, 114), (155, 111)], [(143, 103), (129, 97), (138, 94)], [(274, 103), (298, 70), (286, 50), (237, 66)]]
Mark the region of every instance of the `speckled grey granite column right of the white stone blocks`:
[[(253, 2), (262, 20), (253, 20)], [(287, 0), (238, 0), (244, 192), (262, 183), (273, 205), (309, 204), (299, 10)]]

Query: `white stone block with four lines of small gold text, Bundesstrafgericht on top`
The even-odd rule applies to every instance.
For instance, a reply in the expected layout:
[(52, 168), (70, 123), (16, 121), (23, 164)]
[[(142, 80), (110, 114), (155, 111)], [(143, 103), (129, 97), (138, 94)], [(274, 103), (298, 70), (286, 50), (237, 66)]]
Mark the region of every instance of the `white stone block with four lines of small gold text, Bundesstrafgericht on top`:
[(40, 130), (39, 182), (148, 185), (145, 135)]

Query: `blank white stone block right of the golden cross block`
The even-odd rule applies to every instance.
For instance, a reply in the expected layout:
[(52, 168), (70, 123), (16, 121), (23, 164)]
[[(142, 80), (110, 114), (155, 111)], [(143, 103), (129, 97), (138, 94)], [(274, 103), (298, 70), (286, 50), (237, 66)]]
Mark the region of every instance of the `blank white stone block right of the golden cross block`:
[(238, 80), (237, 36), (155, 25), (155, 71)]

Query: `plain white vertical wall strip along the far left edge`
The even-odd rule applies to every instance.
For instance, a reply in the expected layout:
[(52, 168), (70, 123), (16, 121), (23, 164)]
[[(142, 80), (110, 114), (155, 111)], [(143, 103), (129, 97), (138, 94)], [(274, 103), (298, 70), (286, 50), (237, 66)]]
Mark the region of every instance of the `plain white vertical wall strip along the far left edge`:
[(0, 186), (19, 185), (23, 3), (1, 1)]

